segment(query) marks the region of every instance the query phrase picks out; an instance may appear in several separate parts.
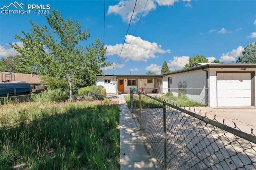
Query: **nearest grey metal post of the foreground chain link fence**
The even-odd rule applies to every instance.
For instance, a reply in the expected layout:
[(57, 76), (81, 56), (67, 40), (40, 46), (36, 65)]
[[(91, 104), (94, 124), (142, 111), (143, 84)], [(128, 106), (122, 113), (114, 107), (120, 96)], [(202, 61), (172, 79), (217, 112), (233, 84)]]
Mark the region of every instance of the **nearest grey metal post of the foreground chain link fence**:
[(166, 104), (163, 101), (163, 121), (164, 121), (164, 169), (167, 170), (167, 126), (166, 126)]

